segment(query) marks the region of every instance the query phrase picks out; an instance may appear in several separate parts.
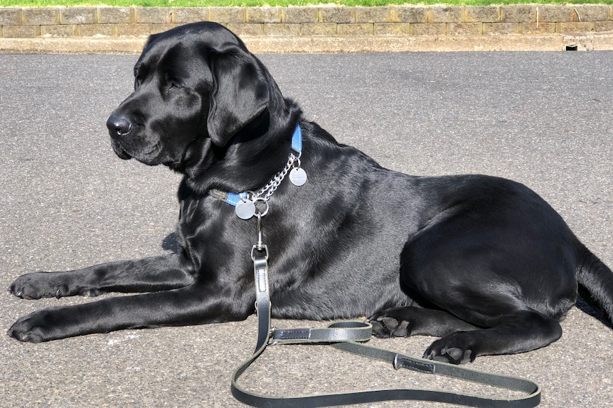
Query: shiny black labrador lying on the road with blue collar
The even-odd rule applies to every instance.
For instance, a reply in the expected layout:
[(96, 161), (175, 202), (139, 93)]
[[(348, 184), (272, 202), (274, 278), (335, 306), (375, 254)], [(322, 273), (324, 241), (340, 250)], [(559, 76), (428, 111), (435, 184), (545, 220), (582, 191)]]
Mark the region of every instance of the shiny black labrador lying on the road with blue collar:
[(19, 277), (10, 291), (26, 299), (147, 293), (36, 311), (10, 336), (245, 319), (258, 219), (277, 318), (370, 316), (375, 336), (441, 337), (425, 356), (451, 363), (556, 341), (578, 290), (613, 320), (612, 271), (535, 192), (380, 167), (307, 121), (223, 26), (151, 35), (134, 75), (107, 121), (112, 147), (183, 175), (179, 249)]

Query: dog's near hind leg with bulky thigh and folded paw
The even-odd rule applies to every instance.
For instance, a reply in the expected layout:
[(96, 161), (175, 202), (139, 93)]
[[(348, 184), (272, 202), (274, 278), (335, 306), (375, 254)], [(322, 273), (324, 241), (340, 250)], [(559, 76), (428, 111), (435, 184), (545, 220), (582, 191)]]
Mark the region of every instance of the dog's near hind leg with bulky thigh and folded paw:
[(535, 350), (562, 335), (558, 320), (577, 296), (572, 236), (509, 219), (461, 215), (406, 244), (400, 277), (411, 299), (478, 327), (444, 334), (425, 357), (467, 363)]

